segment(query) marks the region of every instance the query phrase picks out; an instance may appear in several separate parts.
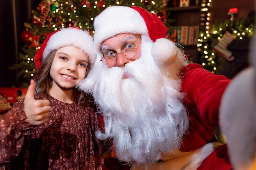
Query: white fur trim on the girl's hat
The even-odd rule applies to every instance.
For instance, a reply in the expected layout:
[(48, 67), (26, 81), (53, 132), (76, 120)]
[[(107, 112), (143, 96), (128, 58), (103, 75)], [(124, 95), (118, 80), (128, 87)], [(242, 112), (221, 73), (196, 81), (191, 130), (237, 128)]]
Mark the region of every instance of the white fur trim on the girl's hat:
[(92, 36), (82, 29), (68, 27), (61, 29), (50, 37), (43, 52), (43, 60), (50, 52), (63, 46), (75, 46), (83, 50), (88, 55), (91, 63), (94, 63), (96, 59)]

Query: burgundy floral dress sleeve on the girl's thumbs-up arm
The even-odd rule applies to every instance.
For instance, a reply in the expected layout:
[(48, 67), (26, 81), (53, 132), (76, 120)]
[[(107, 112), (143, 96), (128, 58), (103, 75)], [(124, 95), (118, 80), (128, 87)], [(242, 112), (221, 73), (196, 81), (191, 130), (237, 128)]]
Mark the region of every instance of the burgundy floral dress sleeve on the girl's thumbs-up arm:
[(0, 116), (0, 163), (7, 163), (18, 156), (24, 142), (23, 132), (29, 128), (32, 125), (25, 115), (24, 100)]

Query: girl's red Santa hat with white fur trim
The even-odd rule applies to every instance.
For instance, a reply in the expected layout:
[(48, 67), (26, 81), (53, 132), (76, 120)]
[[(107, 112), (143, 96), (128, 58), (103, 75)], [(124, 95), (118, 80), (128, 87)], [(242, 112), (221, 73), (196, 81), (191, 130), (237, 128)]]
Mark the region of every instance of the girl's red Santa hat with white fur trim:
[(54, 31), (47, 36), (34, 57), (37, 71), (40, 70), (43, 60), (50, 52), (64, 46), (75, 46), (83, 50), (88, 55), (90, 63), (94, 63), (96, 54), (93, 51), (92, 36), (78, 27), (68, 27)]

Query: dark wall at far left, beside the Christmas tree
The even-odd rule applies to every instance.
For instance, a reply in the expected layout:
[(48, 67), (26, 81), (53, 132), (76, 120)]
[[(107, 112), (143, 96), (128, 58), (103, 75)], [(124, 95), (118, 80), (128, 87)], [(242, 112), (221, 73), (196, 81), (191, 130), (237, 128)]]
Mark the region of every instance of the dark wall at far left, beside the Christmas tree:
[(20, 87), (17, 71), (9, 66), (18, 63), (18, 53), (24, 45), (20, 33), (41, 0), (0, 0), (0, 87)]

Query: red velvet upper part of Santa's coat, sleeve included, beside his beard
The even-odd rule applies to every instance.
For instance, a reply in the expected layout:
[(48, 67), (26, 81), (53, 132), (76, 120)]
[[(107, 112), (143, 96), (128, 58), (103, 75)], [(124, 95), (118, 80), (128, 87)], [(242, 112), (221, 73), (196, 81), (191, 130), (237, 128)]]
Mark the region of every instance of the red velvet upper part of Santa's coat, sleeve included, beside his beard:
[(190, 128), (184, 136), (180, 151), (201, 148), (214, 136), (212, 124), (219, 124), (219, 106), (222, 94), (230, 82), (223, 75), (215, 75), (199, 64), (189, 64), (180, 73), (184, 105), (189, 113)]

